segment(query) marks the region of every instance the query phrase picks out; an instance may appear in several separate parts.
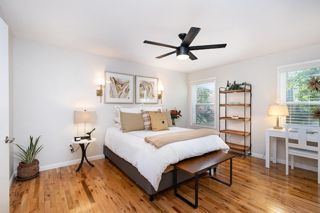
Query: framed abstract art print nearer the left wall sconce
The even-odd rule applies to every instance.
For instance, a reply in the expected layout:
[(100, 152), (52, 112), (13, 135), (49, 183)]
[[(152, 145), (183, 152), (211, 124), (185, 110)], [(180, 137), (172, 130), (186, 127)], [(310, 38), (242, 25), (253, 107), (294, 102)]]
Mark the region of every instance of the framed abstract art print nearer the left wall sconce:
[(133, 75), (104, 72), (104, 103), (133, 103)]

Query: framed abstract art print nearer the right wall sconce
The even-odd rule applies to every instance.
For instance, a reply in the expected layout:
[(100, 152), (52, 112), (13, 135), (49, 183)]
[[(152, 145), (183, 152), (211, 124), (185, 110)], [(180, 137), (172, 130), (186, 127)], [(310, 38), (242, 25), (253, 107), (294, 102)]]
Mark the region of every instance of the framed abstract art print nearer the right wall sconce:
[(135, 76), (135, 103), (158, 102), (158, 79)]

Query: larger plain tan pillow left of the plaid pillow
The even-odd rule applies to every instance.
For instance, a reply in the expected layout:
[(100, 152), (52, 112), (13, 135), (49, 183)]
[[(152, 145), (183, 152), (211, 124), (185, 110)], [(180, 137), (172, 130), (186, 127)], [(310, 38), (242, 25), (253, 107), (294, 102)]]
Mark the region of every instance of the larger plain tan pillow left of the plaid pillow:
[(122, 132), (144, 130), (141, 113), (126, 113), (120, 111)]

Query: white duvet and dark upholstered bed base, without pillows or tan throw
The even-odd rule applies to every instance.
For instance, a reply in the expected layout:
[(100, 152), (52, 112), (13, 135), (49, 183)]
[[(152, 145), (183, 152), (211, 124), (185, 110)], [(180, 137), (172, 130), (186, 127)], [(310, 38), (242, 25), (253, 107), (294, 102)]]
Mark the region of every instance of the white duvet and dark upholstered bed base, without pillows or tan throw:
[[(106, 158), (139, 185), (152, 201), (155, 193), (173, 186), (173, 172), (165, 173), (169, 165), (204, 153), (216, 150), (226, 153), (229, 150), (229, 147), (217, 135), (174, 142), (158, 149), (152, 144), (144, 142), (143, 136), (178, 131), (192, 130), (169, 127), (169, 130), (161, 132), (139, 130), (122, 133), (117, 127), (108, 128), (105, 134), (103, 153)], [(131, 154), (133, 154), (133, 158)], [(167, 163), (160, 162), (160, 158), (166, 158)], [(193, 177), (181, 171), (178, 172), (178, 183)]]

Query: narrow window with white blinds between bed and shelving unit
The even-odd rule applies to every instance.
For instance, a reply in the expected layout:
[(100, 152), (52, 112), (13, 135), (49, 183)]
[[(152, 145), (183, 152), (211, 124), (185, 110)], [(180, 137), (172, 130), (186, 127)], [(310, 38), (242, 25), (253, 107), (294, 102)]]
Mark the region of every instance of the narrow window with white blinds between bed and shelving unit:
[(191, 126), (215, 128), (215, 78), (191, 81)]

